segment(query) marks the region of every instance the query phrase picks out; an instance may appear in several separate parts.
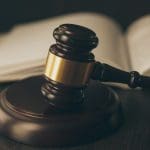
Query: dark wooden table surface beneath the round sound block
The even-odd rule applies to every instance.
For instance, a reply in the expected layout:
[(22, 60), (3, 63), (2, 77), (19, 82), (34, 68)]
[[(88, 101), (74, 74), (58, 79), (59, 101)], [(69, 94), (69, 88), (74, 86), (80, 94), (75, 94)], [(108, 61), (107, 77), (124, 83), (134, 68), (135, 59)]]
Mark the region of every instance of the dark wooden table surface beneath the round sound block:
[(0, 150), (150, 150), (150, 90), (115, 90), (122, 101), (125, 123), (113, 135), (69, 148), (36, 148), (0, 136)]

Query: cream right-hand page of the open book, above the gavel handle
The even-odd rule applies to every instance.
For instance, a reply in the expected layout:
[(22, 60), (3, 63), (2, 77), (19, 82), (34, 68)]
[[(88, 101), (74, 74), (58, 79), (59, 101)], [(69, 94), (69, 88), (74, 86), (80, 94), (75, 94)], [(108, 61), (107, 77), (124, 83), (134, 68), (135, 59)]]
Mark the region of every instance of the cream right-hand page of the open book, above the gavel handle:
[(126, 37), (132, 70), (150, 75), (150, 15), (133, 22)]

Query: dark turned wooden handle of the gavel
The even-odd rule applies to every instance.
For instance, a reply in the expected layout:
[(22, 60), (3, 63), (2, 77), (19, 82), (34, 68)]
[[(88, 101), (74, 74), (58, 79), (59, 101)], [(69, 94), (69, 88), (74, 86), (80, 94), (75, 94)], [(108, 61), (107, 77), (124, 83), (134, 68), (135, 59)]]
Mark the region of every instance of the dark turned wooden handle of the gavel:
[(100, 62), (95, 63), (91, 78), (101, 82), (128, 84), (130, 88), (150, 88), (150, 77), (142, 76), (137, 71), (126, 72)]

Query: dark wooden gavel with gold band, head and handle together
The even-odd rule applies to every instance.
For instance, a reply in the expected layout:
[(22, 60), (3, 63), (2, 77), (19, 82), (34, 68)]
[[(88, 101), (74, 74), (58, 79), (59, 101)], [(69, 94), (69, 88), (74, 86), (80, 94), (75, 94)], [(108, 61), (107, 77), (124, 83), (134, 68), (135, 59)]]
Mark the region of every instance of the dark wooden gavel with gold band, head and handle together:
[(79, 25), (63, 24), (55, 29), (53, 36), (56, 44), (49, 49), (44, 73), (48, 82), (42, 86), (42, 93), (50, 103), (57, 103), (56, 95), (59, 95), (60, 91), (61, 94), (64, 92), (67, 104), (76, 104), (76, 101), (70, 101), (73, 99), (71, 96), (66, 97), (66, 93), (72, 92), (78, 95), (77, 103), (81, 103), (83, 89), (90, 79), (124, 83), (131, 88), (150, 87), (149, 77), (141, 76), (136, 71), (129, 73), (97, 62), (91, 50), (97, 46), (98, 38), (92, 30)]

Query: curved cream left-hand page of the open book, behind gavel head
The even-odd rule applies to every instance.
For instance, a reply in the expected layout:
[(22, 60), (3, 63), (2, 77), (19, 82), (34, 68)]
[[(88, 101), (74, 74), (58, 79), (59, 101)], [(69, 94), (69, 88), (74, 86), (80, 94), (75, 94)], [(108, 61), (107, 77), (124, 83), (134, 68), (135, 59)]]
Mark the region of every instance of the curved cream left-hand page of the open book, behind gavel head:
[[(97, 61), (128, 68), (124, 37), (119, 25), (103, 15), (75, 13), (21, 24), (3, 35), (0, 38), (0, 81), (34, 75), (32, 68), (42, 74), (41, 66), (44, 68), (49, 46), (55, 43), (53, 30), (64, 23), (83, 25), (96, 32), (100, 41), (93, 51)], [(38, 66), (41, 72), (37, 71)]]

